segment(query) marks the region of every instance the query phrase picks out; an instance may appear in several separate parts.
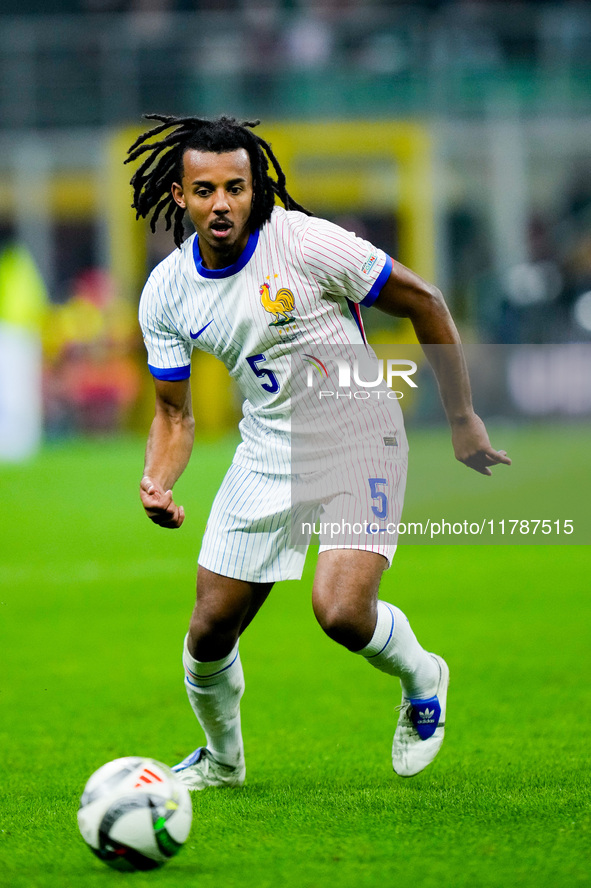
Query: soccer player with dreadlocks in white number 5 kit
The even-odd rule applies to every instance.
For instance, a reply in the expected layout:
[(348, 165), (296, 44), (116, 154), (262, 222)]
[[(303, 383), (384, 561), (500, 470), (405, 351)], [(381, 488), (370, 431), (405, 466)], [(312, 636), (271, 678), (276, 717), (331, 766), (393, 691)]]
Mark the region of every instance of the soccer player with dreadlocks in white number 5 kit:
[[(456, 458), (484, 475), (510, 460), (492, 448), (474, 413), (458, 333), (434, 286), (299, 206), (270, 145), (253, 132), (258, 122), (149, 119), (158, 124), (129, 150), (128, 161), (146, 155), (132, 178), (133, 206), (138, 218), (151, 215), (152, 230), (164, 212), (178, 247), (151, 273), (140, 304), (156, 389), (140, 495), (153, 522), (177, 528), (185, 519), (172, 490), (193, 444), (192, 349), (220, 358), (245, 398), (242, 443), (206, 527), (183, 650), (186, 689), (207, 745), (175, 770), (190, 789), (241, 786), (239, 638), (276, 581), (301, 577), (306, 550), (290, 535), (294, 351), (315, 360), (324, 347), (367, 350), (359, 304), (410, 318), (438, 379)], [(195, 229), (187, 238), (186, 216)], [(370, 473), (363, 483), (357, 473), (348, 486), (343, 464), (315, 474), (328, 510), (336, 503), (338, 514), (371, 519), (372, 510), (384, 517), (388, 504), (397, 517), (406, 477), (402, 418), (392, 404), (367, 415), (368, 431), (365, 419), (349, 420), (358, 426), (350, 464)], [(340, 442), (345, 458), (349, 440)], [(336, 544), (321, 538), (312, 601), (330, 638), (400, 679), (392, 761), (397, 774), (412, 776), (441, 747), (449, 670), (421, 647), (402, 611), (379, 599), (394, 550), (395, 541), (379, 533)]]

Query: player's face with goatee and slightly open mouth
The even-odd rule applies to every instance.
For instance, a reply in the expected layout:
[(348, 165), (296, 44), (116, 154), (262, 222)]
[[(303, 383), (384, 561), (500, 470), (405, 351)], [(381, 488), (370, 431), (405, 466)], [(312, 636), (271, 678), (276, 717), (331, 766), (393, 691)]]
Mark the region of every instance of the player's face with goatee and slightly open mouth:
[(231, 265), (244, 250), (252, 208), (252, 172), (245, 148), (216, 154), (189, 148), (183, 155), (183, 180), (172, 186), (199, 237), (204, 264)]

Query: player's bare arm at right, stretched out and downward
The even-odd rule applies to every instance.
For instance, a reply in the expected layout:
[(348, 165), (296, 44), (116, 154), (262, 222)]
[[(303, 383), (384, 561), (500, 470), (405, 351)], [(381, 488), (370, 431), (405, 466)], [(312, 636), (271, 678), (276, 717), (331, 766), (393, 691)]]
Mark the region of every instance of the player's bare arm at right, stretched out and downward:
[(411, 321), (437, 378), (456, 459), (483, 475), (492, 474), (490, 466), (498, 463), (511, 465), (504, 450), (491, 446), (485, 425), (474, 412), (460, 336), (437, 287), (394, 261), (374, 305)]

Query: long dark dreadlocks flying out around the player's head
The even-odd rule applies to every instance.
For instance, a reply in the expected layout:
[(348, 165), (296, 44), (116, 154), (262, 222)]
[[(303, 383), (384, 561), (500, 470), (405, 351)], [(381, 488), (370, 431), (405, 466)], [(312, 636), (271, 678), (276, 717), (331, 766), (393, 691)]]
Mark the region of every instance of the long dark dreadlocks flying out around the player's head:
[[(252, 132), (260, 120), (239, 123), (234, 117), (218, 117), (214, 120), (162, 114), (145, 114), (144, 117), (146, 120), (158, 120), (159, 125), (142, 133), (127, 152), (125, 163), (147, 154), (131, 179), (132, 207), (136, 211), (136, 219), (140, 216), (145, 219), (152, 214), (152, 231), (156, 230), (156, 222), (164, 212), (167, 230), (174, 222), (174, 242), (177, 247), (183, 242), (185, 210), (176, 204), (171, 188), (173, 182), (182, 181), (183, 155), (190, 148), (218, 154), (239, 148), (246, 149), (254, 189), (250, 215), (252, 231), (271, 218), (275, 195), (281, 199), (286, 210), (300, 210), (308, 216), (312, 215), (287, 192), (285, 174), (269, 143)], [(166, 130), (172, 131), (163, 135)], [(156, 137), (161, 138), (152, 141)], [(269, 161), (277, 176), (276, 181), (269, 175)]]

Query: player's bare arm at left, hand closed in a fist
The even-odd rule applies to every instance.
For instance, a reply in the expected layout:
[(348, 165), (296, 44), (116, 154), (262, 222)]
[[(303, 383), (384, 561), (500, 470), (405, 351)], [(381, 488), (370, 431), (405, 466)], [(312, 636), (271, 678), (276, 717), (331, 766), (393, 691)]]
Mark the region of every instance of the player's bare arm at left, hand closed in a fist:
[(146, 515), (161, 527), (180, 527), (185, 510), (177, 506), (172, 488), (180, 478), (193, 449), (195, 420), (189, 379), (154, 378), (156, 412), (146, 446), (140, 498)]

